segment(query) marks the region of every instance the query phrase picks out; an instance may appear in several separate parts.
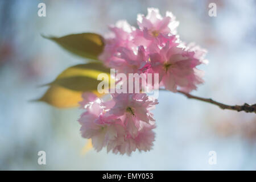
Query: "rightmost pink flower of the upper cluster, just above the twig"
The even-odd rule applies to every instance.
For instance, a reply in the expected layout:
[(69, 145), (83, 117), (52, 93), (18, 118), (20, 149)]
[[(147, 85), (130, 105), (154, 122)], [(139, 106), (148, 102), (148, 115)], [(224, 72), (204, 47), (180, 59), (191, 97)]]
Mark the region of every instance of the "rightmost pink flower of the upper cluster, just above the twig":
[(190, 92), (203, 80), (195, 68), (201, 64), (195, 51), (180, 47), (178, 43), (167, 43), (158, 53), (150, 54), (151, 68), (159, 73), (160, 86), (177, 92), (177, 86)]

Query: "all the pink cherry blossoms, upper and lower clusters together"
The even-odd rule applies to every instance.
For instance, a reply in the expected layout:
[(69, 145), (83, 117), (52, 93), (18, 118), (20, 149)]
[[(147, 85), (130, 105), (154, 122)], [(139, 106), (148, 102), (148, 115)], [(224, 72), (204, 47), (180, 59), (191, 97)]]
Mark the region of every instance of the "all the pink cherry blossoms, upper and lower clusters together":
[[(157, 73), (159, 86), (171, 92), (191, 92), (203, 83), (203, 71), (196, 67), (207, 63), (206, 51), (181, 42), (176, 31), (179, 22), (171, 12), (163, 17), (158, 9), (150, 8), (146, 16), (138, 14), (137, 22), (138, 28), (125, 20), (110, 26), (99, 57), (106, 67), (126, 75)], [(81, 134), (92, 139), (97, 151), (106, 147), (108, 152), (130, 155), (137, 149), (151, 149), (155, 120), (150, 110), (157, 100), (145, 93), (115, 93), (107, 101), (91, 93), (84, 93), (83, 97)]]

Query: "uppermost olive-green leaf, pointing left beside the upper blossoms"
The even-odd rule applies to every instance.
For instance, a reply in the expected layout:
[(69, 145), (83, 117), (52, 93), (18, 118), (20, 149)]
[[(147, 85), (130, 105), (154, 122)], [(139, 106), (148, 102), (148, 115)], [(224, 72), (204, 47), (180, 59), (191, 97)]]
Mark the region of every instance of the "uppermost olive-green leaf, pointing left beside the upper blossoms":
[(75, 55), (93, 60), (98, 60), (98, 56), (104, 49), (104, 38), (94, 33), (71, 34), (60, 38), (53, 36), (43, 37), (53, 40)]

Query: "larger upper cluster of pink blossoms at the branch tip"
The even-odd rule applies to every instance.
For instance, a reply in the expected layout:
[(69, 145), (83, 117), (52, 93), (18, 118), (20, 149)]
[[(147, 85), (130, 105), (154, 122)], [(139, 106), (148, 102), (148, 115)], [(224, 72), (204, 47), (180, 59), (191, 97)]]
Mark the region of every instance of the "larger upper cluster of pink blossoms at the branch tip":
[(207, 63), (205, 49), (181, 42), (175, 16), (162, 16), (149, 8), (146, 16), (138, 14), (138, 28), (120, 20), (110, 26), (100, 60), (118, 73), (158, 73), (159, 85), (176, 92), (195, 90), (203, 83), (204, 72), (197, 65)]

